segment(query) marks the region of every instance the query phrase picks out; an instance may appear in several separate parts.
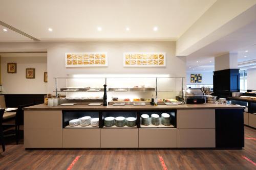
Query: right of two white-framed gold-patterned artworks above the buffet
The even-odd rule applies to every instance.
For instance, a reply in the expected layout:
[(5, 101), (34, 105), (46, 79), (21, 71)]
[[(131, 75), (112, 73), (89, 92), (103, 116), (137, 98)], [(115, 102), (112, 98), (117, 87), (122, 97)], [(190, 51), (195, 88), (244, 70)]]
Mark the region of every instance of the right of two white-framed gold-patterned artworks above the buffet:
[(165, 67), (166, 53), (123, 53), (124, 67)]

